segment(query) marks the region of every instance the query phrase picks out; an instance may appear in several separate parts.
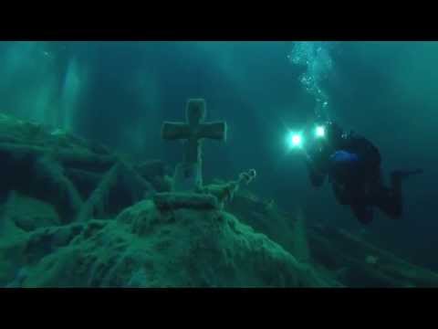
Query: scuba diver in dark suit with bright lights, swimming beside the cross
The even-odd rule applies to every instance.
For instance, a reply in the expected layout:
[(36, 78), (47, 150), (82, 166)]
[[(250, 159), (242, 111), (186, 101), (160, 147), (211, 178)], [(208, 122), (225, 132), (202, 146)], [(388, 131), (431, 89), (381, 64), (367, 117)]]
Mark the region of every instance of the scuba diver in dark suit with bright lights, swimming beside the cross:
[(373, 219), (373, 207), (389, 218), (401, 218), (403, 200), (401, 182), (422, 169), (391, 172), (391, 186), (385, 186), (381, 174), (381, 154), (369, 140), (354, 132), (344, 133), (335, 122), (317, 129), (319, 138), (305, 152), (312, 186), (322, 186), (326, 177), (340, 205), (348, 205), (362, 224)]

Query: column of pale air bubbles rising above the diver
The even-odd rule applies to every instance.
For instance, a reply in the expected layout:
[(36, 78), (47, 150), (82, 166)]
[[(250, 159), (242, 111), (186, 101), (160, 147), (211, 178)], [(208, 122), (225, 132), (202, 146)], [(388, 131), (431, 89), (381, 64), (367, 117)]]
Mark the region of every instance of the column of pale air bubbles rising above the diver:
[(333, 69), (330, 50), (334, 45), (333, 42), (297, 41), (287, 56), (293, 65), (306, 67), (299, 80), (315, 100), (317, 120), (328, 120), (328, 94), (323, 90), (321, 82), (328, 78)]

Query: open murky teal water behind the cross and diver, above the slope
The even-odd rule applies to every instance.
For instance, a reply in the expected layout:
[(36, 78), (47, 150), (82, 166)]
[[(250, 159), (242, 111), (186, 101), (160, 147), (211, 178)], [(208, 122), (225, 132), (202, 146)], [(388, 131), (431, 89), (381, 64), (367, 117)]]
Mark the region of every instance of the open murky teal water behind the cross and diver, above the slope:
[[(203, 145), (206, 182), (255, 168), (258, 196), (438, 271), (437, 56), (438, 42), (413, 41), (0, 42), (0, 111), (174, 165), (182, 145), (162, 141), (162, 122), (203, 98), (207, 121), (228, 125), (226, 143)], [(375, 143), (386, 177), (424, 169), (404, 185), (403, 218), (363, 226), (328, 184), (310, 186), (285, 137), (316, 111)]]

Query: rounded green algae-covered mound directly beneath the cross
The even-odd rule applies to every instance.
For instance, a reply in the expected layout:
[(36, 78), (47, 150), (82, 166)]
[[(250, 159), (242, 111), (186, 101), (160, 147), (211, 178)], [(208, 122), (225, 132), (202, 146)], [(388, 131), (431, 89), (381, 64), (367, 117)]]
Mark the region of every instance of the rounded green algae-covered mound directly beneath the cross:
[[(19, 245), (19, 248), (18, 248)], [(5, 261), (14, 250), (16, 265)], [(0, 243), (0, 283), (22, 287), (318, 287), (333, 281), (214, 209), (161, 211), (145, 200), (116, 219), (41, 228)]]

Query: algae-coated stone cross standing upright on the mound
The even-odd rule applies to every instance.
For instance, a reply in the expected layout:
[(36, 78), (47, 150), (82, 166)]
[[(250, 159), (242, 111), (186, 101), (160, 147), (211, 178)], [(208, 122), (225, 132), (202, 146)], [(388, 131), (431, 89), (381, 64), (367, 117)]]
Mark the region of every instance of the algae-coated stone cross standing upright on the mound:
[(205, 101), (199, 99), (187, 101), (186, 122), (162, 124), (162, 139), (184, 140), (183, 162), (176, 166), (173, 177), (175, 192), (194, 192), (203, 186), (203, 139), (226, 140), (226, 122), (203, 122), (204, 120)]

